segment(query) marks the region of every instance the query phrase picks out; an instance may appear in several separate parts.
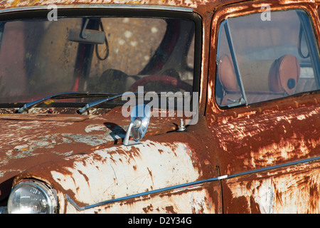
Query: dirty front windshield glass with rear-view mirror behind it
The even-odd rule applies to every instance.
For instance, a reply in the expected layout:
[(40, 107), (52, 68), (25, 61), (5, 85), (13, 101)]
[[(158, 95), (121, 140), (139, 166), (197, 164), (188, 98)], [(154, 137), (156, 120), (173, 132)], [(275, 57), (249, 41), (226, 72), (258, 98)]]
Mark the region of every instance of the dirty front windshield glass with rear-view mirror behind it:
[(2, 21), (0, 31), (0, 103), (65, 91), (119, 94), (139, 86), (144, 92), (193, 91), (192, 20), (61, 17)]

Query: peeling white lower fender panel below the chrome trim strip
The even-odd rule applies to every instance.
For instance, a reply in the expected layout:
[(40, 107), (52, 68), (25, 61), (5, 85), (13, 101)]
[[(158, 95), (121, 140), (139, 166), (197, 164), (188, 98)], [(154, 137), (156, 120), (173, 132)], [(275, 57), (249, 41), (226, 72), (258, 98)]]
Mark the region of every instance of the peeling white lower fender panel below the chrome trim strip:
[(220, 186), (213, 185), (181, 188), (161, 194), (114, 202), (81, 212), (75, 209), (70, 202), (65, 202), (65, 207), (61, 207), (61, 209), (64, 209), (63, 212), (67, 213), (218, 213), (220, 212), (218, 207), (221, 206), (216, 204), (218, 202), (219, 189)]

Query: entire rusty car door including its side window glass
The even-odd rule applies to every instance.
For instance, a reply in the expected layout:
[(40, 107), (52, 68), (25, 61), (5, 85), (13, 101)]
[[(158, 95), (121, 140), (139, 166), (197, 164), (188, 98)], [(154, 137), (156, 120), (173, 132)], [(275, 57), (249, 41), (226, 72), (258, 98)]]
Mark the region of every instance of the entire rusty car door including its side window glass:
[(319, 213), (319, 24), (314, 4), (215, 12), (206, 118), (223, 212)]

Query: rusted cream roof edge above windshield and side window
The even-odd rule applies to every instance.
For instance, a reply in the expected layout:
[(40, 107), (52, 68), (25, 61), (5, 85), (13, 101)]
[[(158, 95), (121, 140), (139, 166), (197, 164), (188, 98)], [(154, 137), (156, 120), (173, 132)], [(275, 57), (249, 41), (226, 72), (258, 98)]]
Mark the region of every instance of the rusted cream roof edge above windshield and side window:
[[(134, 8), (134, 9), (168, 9), (173, 11), (195, 11), (200, 14), (218, 9), (223, 5), (229, 5), (248, 0), (0, 0), (0, 13), (10, 11), (23, 11), (29, 9), (48, 9), (50, 4), (55, 4), (57, 8)], [(249, 1), (250, 2), (250, 1)], [(253, 2), (253, 0), (252, 0)], [(270, 4), (282, 2), (318, 2), (315, 0), (294, 0), (283, 1), (274, 0)], [(255, 3), (258, 3), (255, 1)], [(263, 4), (263, 2), (261, 2)]]

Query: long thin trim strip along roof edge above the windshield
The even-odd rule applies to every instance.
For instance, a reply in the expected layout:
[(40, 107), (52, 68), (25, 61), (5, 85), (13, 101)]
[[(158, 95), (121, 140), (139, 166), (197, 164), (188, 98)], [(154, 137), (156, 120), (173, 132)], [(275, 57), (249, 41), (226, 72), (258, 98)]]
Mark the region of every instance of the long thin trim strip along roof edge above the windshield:
[[(164, 10), (164, 11), (180, 11), (180, 12), (193, 12), (193, 8), (179, 7), (179, 6), (158, 6), (158, 5), (133, 5), (133, 4), (80, 4), (80, 5), (56, 5), (57, 9), (149, 9), (149, 10)], [(15, 11), (28, 11), (28, 10), (50, 10), (48, 6), (22, 6), (9, 9), (0, 9), (1, 13), (9, 13)]]

